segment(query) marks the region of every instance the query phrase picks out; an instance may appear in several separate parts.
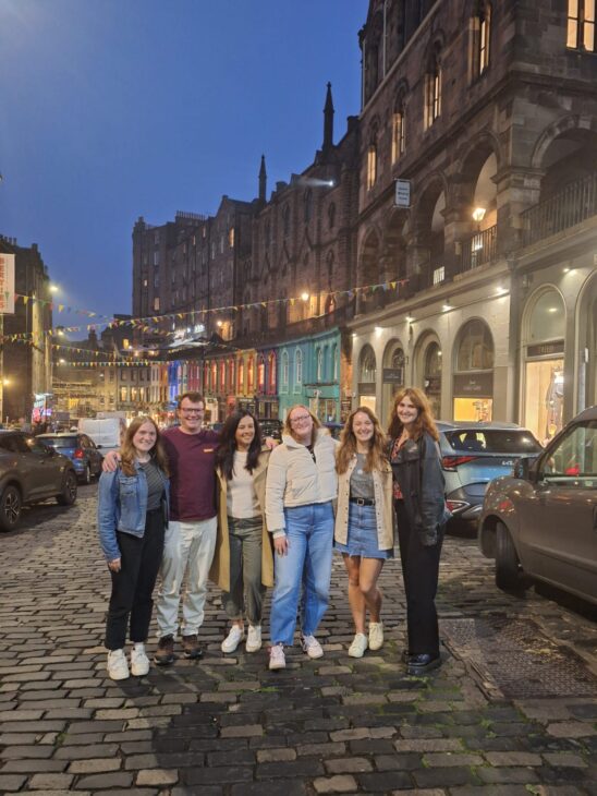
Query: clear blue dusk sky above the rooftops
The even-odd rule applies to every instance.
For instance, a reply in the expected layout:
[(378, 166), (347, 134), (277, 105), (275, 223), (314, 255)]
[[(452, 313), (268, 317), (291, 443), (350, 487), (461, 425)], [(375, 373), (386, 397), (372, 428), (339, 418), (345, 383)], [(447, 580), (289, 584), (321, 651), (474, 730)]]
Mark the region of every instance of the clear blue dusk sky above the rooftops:
[[(212, 214), (313, 160), (360, 111), (367, 0), (0, 0), (0, 233), (57, 302), (131, 311), (138, 216)], [(54, 324), (88, 323), (54, 313)]]

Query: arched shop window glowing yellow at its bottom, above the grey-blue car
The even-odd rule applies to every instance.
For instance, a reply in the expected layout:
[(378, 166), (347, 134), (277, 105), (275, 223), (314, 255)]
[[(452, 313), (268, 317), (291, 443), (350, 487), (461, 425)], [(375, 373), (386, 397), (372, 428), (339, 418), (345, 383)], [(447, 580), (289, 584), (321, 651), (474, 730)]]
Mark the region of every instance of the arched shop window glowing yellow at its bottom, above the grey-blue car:
[(483, 321), (468, 321), (459, 336), (453, 375), (454, 420), (489, 421), (494, 412), (494, 340)]

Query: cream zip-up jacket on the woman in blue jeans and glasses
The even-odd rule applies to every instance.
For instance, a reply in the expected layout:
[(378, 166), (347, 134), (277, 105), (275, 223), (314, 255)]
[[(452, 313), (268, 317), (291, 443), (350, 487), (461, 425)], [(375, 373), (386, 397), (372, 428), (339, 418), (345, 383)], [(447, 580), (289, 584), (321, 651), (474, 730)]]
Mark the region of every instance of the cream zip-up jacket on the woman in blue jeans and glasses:
[(315, 461), (305, 445), (285, 434), (282, 444), (271, 451), (266, 482), (266, 520), (275, 535), (285, 531), (284, 507), (336, 500), (337, 445), (327, 431), (318, 429), (313, 446)]

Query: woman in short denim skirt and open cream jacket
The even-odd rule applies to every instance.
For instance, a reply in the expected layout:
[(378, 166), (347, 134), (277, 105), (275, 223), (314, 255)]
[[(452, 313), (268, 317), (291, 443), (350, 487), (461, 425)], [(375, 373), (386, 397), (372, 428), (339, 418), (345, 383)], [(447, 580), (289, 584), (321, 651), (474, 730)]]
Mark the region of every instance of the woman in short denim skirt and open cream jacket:
[[(337, 454), (338, 510), (334, 547), (349, 576), (349, 603), (355, 636), (351, 658), (383, 644), (381, 591), (377, 579), (383, 562), (393, 556), (394, 520), (392, 468), (386, 435), (367, 407), (349, 415)], [(366, 615), (369, 632), (366, 635)]]

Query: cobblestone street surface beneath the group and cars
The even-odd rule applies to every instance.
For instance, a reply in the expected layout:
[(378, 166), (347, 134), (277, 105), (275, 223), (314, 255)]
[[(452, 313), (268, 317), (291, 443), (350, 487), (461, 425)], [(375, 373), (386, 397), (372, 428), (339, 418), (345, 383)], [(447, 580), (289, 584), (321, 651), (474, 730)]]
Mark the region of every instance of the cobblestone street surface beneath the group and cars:
[(101, 646), (109, 578), (95, 486), (71, 509), (27, 511), (0, 544), (2, 793), (597, 794), (594, 618), (534, 590), (498, 592), (472, 539), (444, 545), (444, 663), (432, 676), (400, 665), (397, 560), (381, 577), (383, 649), (348, 656), (338, 559), (319, 661), (294, 648), (270, 673), (265, 649), (222, 655), (212, 589), (204, 660), (120, 684)]

